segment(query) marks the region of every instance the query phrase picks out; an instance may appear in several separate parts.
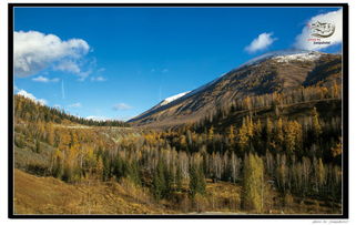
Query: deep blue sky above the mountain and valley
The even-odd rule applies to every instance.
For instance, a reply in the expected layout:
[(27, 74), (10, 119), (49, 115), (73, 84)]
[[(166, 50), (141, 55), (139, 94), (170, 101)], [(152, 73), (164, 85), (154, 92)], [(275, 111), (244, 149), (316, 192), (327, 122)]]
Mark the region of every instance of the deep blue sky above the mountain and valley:
[[(293, 48), (311, 18), (336, 10), (17, 8), (14, 31), (22, 31), (24, 42), (21, 59), (33, 61), (40, 53), (50, 57), (39, 58), (31, 74), (16, 74), (14, 85), (74, 115), (126, 120), (264, 52)], [(45, 52), (45, 47), (40, 53), (35, 48), (31, 52), (26, 45), (30, 31), (40, 38), (39, 33), (42, 38), (54, 34), (59, 49), (71, 53), (53, 55), (57, 50)], [(258, 37), (262, 45), (248, 51)], [(340, 44), (322, 49), (339, 50)], [(69, 65), (64, 61), (72, 67), (61, 69)]]

